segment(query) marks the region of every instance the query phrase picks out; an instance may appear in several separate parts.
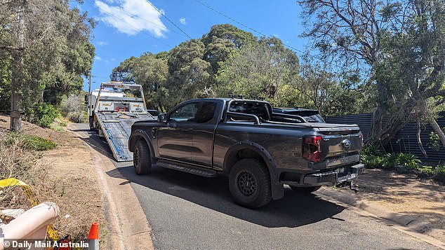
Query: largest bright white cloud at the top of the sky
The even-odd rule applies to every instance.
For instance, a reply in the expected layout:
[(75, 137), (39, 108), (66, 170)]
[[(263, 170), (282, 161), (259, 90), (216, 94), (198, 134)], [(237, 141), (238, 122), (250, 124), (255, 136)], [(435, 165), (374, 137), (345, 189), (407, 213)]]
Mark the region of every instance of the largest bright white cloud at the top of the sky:
[[(161, 14), (145, 0), (95, 1), (102, 22), (119, 32), (134, 36), (148, 31), (157, 37), (164, 37), (167, 27), (161, 22)], [(160, 10), (162, 12), (162, 10)], [(141, 19), (142, 18), (142, 19)]]

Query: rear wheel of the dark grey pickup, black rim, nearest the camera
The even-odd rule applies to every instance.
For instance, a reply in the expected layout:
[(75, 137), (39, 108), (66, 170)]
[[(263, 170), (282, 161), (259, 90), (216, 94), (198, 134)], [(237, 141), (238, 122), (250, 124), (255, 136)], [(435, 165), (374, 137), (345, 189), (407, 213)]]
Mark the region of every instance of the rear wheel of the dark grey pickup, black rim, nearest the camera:
[(232, 197), (242, 207), (263, 207), (272, 200), (270, 174), (263, 162), (255, 159), (239, 160), (229, 175)]

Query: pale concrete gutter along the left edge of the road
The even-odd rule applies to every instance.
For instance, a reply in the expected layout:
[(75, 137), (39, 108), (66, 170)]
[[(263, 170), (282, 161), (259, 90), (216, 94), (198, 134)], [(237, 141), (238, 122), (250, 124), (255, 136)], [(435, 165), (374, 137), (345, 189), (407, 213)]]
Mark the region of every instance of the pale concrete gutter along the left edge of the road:
[[(82, 134), (73, 131), (76, 128), (71, 126), (68, 128), (77, 137), (85, 138)], [(86, 141), (83, 142), (90, 151), (102, 191), (107, 221), (106, 248), (154, 249), (152, 229), (130, 182), (119, 171), (114, 171), (112, 176), (107, 174), (117, 170), (112, 160), (95, 151)]]

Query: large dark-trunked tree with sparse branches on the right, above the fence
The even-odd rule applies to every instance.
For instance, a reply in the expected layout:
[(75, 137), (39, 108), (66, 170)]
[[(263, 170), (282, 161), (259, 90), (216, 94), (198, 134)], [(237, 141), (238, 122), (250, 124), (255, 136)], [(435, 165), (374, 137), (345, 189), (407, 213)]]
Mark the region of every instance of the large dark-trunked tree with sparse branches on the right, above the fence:
[[(350, 65), (371, 69), (367, 85), (375, 85), (378, 103), (371, 143), (386, 144), (412, 117), (430, 120), (436, 127), (424, 111), (431, 97), (445, 96), (445, 90), (438, 88), (444, 83), (444, 1), (299, 3), (307, 17), (303, 36), (310, 37), (322, 55), (341, 62), (337, 66), (343, 69)], [(412, 81), (404, 77), (408, 72), (415, 75), (410, 74)], [(384, 113), (390, 119), (383, 125)], [(438, 133), (445, 146), (445, 135)]]

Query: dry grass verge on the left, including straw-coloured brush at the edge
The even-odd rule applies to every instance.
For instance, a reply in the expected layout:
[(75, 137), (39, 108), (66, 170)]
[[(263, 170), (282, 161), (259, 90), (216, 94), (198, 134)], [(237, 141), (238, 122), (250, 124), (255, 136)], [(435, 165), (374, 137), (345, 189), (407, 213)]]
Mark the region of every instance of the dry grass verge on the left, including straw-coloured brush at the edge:
[[(53, 225), (60, 237), (72, 235), (74, 241), (79, 241), (86, 238), (91, 223), (103, 225), (102, 198), (94, 162), (81, 141), (72, 138), (69, 132), (55, 132), (24, 122), (23, 133), (58, 144), (58, 148), (50, 151), (29, 151), (21, 148), (18, 140), (8, 139), (8, 122), (8, 117), (0, 114), (0, 179), (13, 177), (25, 181), (40, 202), (58, 204), (60, 216)], [(0, 209), (30, 207), (31, 202), (22, 188), (0, 189)], [(103, 236), (100, 235), (105, 238)]]

